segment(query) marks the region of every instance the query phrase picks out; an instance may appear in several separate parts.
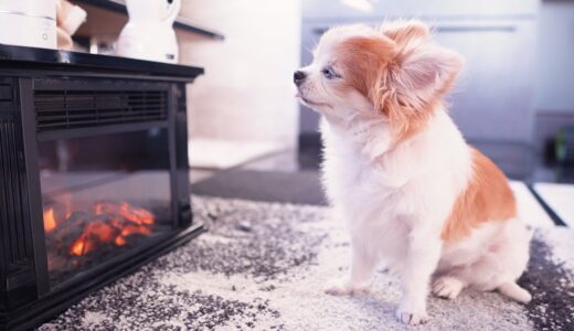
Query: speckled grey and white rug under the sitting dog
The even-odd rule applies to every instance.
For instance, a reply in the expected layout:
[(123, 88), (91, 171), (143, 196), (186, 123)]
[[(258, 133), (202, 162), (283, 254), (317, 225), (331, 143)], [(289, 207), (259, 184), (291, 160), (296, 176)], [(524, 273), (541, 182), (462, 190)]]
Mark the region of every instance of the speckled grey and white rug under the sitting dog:
[[(323, 206), (193, 197), (210, 232), (91, 295), (40, 330), (403, 330), (397, 279), (369, 293), (323, 295), (347, 270), (349, 243)], [(573, 330), (574, 232), (536, 231), (520, 280), (528, 306), (498, 293), (429, 299), (416, 330)]]

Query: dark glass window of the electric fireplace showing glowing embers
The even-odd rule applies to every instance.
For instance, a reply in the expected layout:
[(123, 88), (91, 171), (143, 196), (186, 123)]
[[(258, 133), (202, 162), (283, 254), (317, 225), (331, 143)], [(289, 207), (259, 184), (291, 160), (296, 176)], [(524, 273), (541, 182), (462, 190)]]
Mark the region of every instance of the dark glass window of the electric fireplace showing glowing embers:
[(50, 284), (172, 229), (163, 128), (39, 142)]

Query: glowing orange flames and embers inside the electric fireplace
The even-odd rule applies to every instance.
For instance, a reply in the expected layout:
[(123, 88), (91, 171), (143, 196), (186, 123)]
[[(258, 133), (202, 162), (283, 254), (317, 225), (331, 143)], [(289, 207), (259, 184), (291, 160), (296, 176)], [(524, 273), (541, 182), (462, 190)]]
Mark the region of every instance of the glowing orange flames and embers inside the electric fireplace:
[[(66, 207), (65, 221), (59, 223), (52, 207), (44, 211), (45, 232), (53, 232), (59, 224), (71, 221), (73, 216), (74, 213), (71, 212), (70, 207)], [(74, 256), (86, 255), (105, 244), (125, 246), (128, 244), (127, 238), (131, 235), (151, 234), (151, 225), (156, 222), (151, 212), (132, 206), (127, 202), (98, 202), (94, 204), (92, 215), (81, 217), (87, 217), (88, 221), (87, 224), (82, 223), (85, 224), (82, 234), (70, 246), (70, 254)], [(83, 220), (75, 218), (74, 222)]]

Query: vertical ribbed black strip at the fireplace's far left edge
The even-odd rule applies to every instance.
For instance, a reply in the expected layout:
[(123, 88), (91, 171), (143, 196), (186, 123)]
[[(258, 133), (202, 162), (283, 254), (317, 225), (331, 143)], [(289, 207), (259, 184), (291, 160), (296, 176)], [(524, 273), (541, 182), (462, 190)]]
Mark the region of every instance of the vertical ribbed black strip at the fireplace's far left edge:
[(0, 259), (18, 268), (29, 263), (30, 243), (20, 113), (10, 85), (0, 81)]

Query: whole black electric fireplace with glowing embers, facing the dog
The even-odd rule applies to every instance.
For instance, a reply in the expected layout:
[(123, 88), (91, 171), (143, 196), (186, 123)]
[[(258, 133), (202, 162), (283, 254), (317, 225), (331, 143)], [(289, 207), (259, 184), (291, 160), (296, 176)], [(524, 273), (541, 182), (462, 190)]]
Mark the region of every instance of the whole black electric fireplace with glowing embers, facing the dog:
[(202, 72), (0, 45), (0, 329), (34, 327), (202, 232), (185, 111)]

